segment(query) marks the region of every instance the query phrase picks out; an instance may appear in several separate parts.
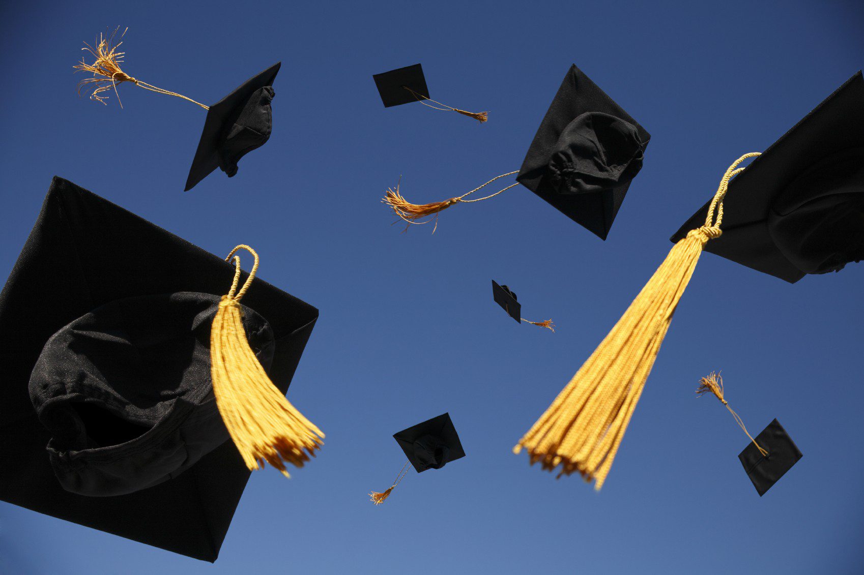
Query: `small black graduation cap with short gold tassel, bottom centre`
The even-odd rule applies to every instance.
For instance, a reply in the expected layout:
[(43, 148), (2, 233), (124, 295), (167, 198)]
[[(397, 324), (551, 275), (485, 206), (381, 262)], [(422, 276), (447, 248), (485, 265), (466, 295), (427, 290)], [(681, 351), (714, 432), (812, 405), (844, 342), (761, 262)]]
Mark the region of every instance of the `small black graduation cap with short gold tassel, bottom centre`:
[(393, 439), (402, 447), (408, 461), (387, 490), (381, 493), (372, 491), (369, 494), (376, 505), (380, 505), (390, 496), (411, 467), (417, 473), (422, 473), (429, 469), (441, 469), (451, 461), (465, 457), (465, 450), (462, 449), (459, 434), (456, 433), (449, 413), (394, 433)]

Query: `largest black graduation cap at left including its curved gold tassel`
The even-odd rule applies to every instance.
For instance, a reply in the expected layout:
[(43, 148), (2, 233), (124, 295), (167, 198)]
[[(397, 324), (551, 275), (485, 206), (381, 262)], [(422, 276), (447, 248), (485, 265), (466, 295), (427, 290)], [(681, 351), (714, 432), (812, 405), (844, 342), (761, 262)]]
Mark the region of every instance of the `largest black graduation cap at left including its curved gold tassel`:
[(318, 310), (256, 272), (55, 177), (0, 293), (0, 499), (215, 560), (251, 467), (318, 445), (284, 398)]

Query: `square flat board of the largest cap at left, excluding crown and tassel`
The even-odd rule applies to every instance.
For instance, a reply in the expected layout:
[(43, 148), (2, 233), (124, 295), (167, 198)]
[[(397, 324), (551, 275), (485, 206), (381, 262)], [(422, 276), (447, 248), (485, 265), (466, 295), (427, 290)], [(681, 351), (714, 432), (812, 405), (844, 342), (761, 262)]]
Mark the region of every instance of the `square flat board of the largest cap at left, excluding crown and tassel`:
[[(226, 244), (226, 252), (234, 245)], [(54, 178), (0, 293), (0, 500), (90, 528), (213, 561), (249, 471), (226, 441), (187, 471), (123, 496), (64, 490), (54, 476), (29, 379), (64, 325), (111, 301), (189, 291), (221, 296), (233, 266), (73, 183)], [(245, 274), (244, 274), (245, 279)], [(313, 306), (256, 280), (243, 304), (270, 324), (268, 371), (288, 389), (318, 317)]]

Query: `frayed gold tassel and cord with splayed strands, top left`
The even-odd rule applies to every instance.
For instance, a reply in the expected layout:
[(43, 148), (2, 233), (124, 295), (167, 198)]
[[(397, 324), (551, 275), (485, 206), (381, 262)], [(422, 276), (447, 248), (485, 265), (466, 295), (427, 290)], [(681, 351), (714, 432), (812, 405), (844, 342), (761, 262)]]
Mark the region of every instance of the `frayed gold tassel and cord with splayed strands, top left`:
[[(200, 105), (200, 107), (205, 110), (210, 110), (210, 106), (206, 106), (201, 104), (200, 102), (195, 102), (192, 98), (187, 98), (182, 94), (178, 94), (177, 92), (170, 92), (168, 90), (164, 90), (162, 88), (157, 88), (155, 85), (150, 85), (143, 80), (139, 80), (136, 78), (132, 78), (129, 74), (125, 73), (121, 68), (120, 64), (123, 63), (123, 57), (125, 52), (118, 52), (117, 49), (123, 44), (122, 41), (114, 44), (114, 36), (117, 35), (118, 28), (114, 28), (114, 31), (110, 36), (105, 38), (104, 35), (99, 35), (99, 42), (96, 47), (92, 47), (90, 44), (84, 42), (86, 47), (81, 48), (82, 50), (86, 50), (93, 55), (93, 58), (96, 60), (92, 64), (87, 64), (86, 61), (82, 58), (80, 63), (72, 66), (76, 70), (80, 70), (81, 72), (89, 72), (93, 74), (92, 78), (83, 79), (78, 83), (78, 93), (80, 95), (81, 91), (86, 88), (93, 88), (93, 92), (90, 95), (90, 99), (96, 100), (97, 102), (101, 102), (102, 104), (108, 105), (105, 103), (105, 100), (108, 99), (107, 96), (102, 96), (102, 92), (107, 92), (113, 88), (114, 93), (117, 95), (117, 101), (120, 104), (120, 107), (123, 108), (123, 102), (120, 102), (120, 94), (117, 92), (117, 85), (123, 82), (130, 82), (134, 85), (137, 85), (139, 88), (143, 88), (144, 90), (149, 90), (150, 92), (156, 92), (159, 94), (166, 94), (167, 96), (176, 96), (177, 98), (183, 98), (193, 104)], [(120, 35), (120, 38), (123, 38), (126, 35), (126, 32), (129, 28), (126, 28), (123, 31), (123, 34)]]

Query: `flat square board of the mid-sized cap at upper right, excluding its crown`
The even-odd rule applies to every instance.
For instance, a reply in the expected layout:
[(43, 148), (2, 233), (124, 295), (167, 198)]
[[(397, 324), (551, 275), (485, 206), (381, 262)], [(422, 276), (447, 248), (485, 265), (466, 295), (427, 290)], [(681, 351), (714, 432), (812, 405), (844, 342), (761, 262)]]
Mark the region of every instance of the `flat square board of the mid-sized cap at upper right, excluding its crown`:
[(651, 135), (574, 64), (540, 123), (516, 180), (577, 224), (606, 239), (631, 181), (600, 193), (561, 194), (548, 177), (547, 167), (558, 138), (570, 122), (587, 112), (602, 112), (632, 123), (645, 152)]

